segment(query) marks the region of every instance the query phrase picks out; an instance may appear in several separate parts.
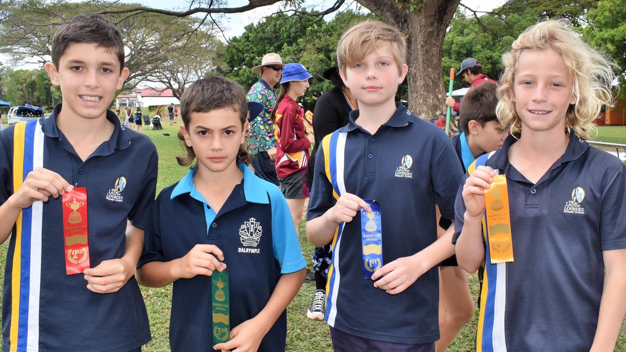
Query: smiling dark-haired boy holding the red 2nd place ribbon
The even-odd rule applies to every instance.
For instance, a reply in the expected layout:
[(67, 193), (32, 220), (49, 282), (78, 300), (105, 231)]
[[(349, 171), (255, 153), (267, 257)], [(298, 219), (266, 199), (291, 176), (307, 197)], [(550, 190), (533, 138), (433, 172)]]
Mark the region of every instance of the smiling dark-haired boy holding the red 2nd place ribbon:
[(44, 68), (63, 103), (0, 133), (3, 350), (140, 351), (150, 326), (133, 274), (156, 148), (107, 110), (128, 77), (120, 31), (81, 14), (52, 43)]

